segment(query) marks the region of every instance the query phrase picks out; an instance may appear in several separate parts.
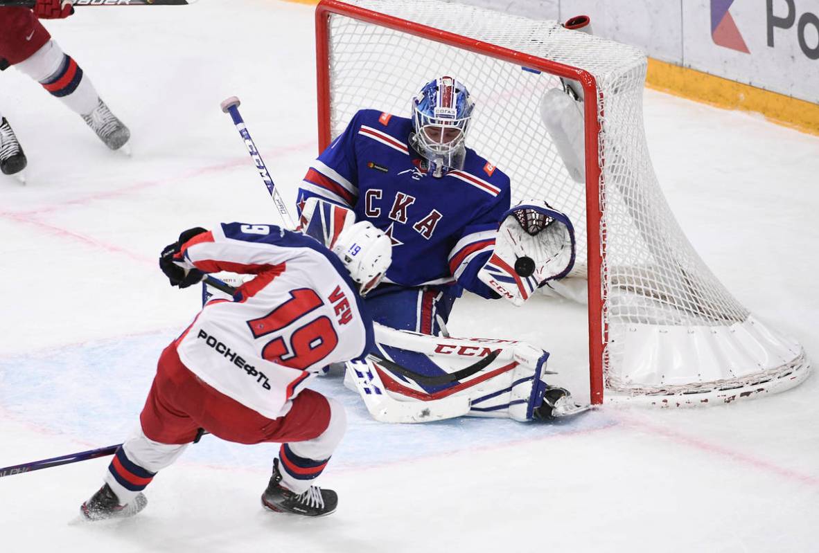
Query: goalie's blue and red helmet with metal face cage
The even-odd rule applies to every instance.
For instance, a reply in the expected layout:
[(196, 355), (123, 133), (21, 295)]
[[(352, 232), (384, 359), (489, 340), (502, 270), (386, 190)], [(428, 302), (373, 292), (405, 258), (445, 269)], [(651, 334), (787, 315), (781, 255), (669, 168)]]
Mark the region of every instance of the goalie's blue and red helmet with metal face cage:
[(464, 84), (446, 76), (426, 83), (413, 98), (410, 140), (429, 161), (433, 176), (464, 168), (464, 142), (474, 107)]

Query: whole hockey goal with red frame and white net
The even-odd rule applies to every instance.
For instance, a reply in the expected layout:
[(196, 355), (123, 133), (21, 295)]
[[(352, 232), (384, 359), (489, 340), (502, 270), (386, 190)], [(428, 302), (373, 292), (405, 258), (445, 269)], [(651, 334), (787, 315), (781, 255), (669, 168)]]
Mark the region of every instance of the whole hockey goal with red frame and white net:
[[(406, 116), (437, 75), (466, 84), (476, 101), (468, 146), (509, 174), (513, 205), (544, 199), (574, 223), (591, 402), (731, 402), (808, 375), (801, 345), (728, 293), (668, 208), (645, 141), (647, 64), (635, 47), (444, 0), (323, 0), (316, 55), (321, 149), (357, 110)], [(541, 97), (560, 78), (586, 98), (585, 184), (541, 123)]]

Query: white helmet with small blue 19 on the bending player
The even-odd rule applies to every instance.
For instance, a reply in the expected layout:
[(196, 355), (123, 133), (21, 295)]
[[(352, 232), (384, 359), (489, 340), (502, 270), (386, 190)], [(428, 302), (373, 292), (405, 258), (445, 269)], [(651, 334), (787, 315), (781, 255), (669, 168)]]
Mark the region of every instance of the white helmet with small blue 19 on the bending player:
[(338, 235), (333, 254), (342, 260), (350, 277), (359, 284), (359, 294), (364, 297), (387, 273), (392, 261), (392, 241), (373, 227), (373, 223), (360, 221)]

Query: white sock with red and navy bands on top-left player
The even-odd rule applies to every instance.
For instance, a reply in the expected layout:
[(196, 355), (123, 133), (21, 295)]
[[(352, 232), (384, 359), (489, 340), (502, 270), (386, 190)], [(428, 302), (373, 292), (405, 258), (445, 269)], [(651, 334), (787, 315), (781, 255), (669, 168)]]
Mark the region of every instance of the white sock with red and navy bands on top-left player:
[(74, 58), (62, 52), (53, 40), (15, 66), (79, 115), (90, 114), (99, 103), (99, 95), (91, 79)]

